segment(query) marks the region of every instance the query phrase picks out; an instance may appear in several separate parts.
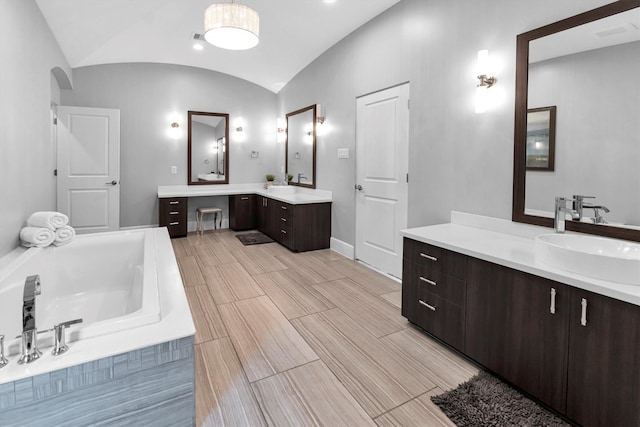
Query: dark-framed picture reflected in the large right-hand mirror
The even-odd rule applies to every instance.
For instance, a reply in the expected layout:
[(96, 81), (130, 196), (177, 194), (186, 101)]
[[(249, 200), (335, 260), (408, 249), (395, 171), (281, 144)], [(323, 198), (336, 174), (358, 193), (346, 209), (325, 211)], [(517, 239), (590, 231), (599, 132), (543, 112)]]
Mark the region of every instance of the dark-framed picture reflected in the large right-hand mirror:
[(556, 110), (555, 105), (527, 110), (528, 171), (555, 170)]

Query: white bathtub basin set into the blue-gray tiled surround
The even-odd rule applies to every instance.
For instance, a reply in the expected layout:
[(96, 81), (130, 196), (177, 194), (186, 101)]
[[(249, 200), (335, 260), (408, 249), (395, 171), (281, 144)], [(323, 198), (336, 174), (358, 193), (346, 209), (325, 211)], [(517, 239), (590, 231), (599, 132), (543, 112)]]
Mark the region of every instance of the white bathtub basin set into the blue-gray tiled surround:
[(22, 293), (33, 274), (41, 282), (36, 327), (42, 348), (53, 345), (53, 334), (43, 331), (69, 320), (83, 320), (67, 330), (70, 344), (160, 320), (151, 229), (77, 236), (72, 243), (31, 248), (0, 271), (0, 333), (8, 356), (20, 352)]

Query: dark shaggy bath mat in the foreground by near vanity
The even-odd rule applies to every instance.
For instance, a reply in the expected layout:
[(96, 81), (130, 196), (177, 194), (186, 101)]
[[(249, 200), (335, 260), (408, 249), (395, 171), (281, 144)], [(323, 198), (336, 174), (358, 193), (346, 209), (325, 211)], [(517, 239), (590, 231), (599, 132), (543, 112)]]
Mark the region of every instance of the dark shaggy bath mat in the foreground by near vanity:
[(457, 426), (553, 426), (570, 424), (486, 372), (431, 401)]

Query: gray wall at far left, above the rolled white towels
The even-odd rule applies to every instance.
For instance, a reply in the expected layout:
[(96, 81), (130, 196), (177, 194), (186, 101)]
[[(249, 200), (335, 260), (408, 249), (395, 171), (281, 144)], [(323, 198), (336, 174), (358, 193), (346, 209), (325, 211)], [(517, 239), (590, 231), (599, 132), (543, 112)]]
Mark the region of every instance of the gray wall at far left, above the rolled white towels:
[(0, 0), (0, 257), (18, 246), (31, 213), (56, 207), (53, 68), (71, 76), (35, 1)]

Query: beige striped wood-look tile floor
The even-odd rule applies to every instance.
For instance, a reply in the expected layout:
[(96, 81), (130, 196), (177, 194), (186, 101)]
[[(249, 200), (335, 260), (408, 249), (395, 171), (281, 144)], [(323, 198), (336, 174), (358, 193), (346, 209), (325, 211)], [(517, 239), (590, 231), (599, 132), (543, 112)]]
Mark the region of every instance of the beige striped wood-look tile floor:
[(196, 326), (198, 426), (453, 426), (478, 369), (400, 314), (401, 285), (331, 251), (173, 239)]

